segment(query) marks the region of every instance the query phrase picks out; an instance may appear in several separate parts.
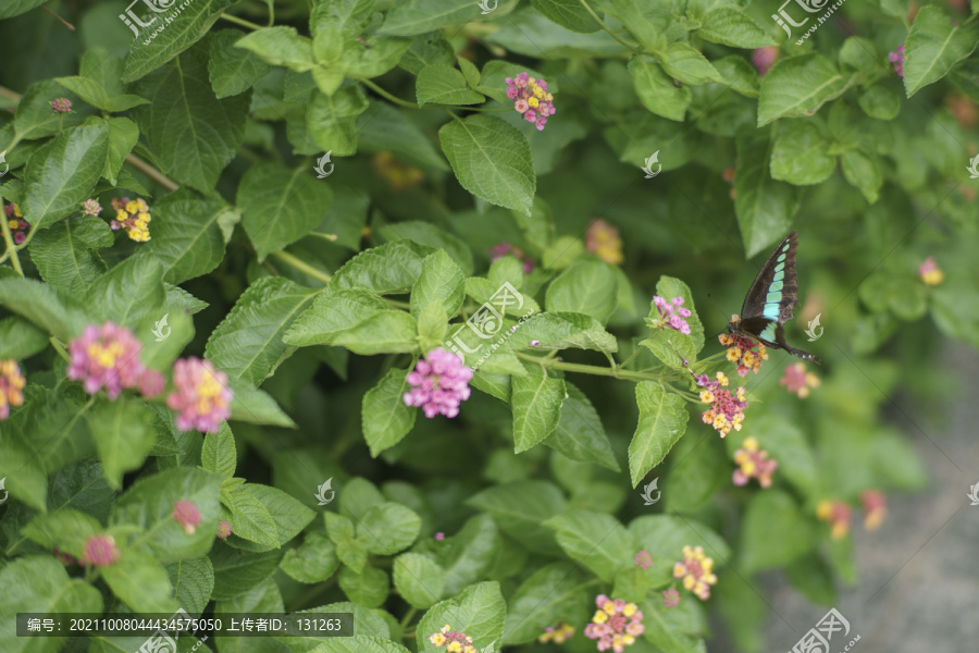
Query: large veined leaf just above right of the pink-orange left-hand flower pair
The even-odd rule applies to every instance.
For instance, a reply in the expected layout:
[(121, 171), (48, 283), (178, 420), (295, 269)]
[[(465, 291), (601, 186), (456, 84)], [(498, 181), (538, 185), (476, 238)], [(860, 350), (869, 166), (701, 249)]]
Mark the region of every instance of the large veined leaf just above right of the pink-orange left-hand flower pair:
[(259, 279), (211, 333), (205, 356), (228, 377), (261, 385), (295, 349), (282, 336), (314, 295), (282, 276)]

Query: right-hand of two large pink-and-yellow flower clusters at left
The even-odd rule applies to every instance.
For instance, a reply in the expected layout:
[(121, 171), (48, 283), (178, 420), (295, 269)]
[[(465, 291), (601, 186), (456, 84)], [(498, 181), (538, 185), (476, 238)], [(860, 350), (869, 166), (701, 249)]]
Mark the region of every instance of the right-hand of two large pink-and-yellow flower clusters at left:
[(176, 390), (166, 397), (166, 406), (179, 412), (176, 427), (181, 431), (196, 429), (216, 433), (221, 422), (231, 417), (234, 395), (227, 387), (227, 374), (210, 360), (191, 356), (173, 364)]

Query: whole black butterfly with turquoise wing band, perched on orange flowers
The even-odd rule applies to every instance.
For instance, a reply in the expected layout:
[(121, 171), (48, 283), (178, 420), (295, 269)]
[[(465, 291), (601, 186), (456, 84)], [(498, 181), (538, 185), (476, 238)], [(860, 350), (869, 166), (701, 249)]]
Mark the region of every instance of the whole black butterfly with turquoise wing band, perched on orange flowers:
[(785, 342), (782, 324), (792, 319), (798, 304), (798, 286), (795, 283), (795, 250), (797, 232), (792, 232), (779, 243), (765, 267), (758, 272), (741, 307), (741, 319), (728, 323), (728, 333), (751, 337), (774, 349), (785, 349), (803, 360), (817, 365), (822, 361)]

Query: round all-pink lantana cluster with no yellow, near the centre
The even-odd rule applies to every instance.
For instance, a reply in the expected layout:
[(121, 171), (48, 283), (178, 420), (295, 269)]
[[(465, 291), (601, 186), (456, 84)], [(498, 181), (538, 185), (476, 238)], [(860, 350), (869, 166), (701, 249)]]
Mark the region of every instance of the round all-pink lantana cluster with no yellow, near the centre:
[(436, 415), (456, 417), (459, 404), (469, 398), (469, 380), (472, 370), (461, 358), (436, 347), (408, 372), (407, 381), (411, 390), (405, 393), (406, 406), (421, 407), (425, 417)]

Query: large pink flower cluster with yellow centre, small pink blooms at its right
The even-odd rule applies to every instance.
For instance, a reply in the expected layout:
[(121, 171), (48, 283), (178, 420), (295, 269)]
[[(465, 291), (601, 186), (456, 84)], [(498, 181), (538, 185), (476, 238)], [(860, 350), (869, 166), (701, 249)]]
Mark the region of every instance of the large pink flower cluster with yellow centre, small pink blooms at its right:
[(96, 394), (102, 387), (114, 399), (126, 387), (136, 387), (145, 397), (163, 392), (163, 375), (139, 361), (140, 343), (125, 326), (106, 322), (89, 324), (69, 344), (72, 361), (67, 378), (82, 381), (85, 392)]

